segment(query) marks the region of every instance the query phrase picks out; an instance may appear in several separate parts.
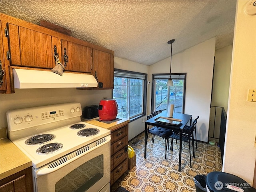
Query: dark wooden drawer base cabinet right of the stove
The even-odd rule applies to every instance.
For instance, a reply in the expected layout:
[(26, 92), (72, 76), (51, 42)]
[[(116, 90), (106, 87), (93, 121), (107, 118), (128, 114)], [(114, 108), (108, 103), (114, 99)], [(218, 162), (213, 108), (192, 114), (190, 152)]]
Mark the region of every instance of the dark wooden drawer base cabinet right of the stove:
[(128, 170), (128, 124), (111, 130), (111, 179), (114, 184)]

